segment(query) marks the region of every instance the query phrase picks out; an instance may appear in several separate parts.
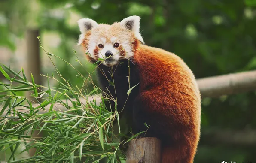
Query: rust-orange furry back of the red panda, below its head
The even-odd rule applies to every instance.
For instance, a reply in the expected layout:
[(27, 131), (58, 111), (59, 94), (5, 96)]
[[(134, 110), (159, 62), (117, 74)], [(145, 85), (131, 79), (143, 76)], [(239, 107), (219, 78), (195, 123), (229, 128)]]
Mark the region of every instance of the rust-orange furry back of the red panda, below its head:
[(155, 122), (161, 124), (155, 127), (155, 133), (167, 135), (162, 140), (162, 162), (191, 163), (199, 140), (201, 116), (201, 98), (192, 71), (177, 55), (146, 45), (140, 45), (134, 52), (134, 63), (139, 70), (139, 96), (147, 106), (146, 112), (162, 116)]

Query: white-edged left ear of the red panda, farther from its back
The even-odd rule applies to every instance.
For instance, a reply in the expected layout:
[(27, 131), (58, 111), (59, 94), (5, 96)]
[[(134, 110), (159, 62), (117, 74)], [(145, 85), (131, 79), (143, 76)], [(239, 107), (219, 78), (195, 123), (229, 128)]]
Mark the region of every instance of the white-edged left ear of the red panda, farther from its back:
[(98, 27), (98, 23), (92, 19), (83, 18), (77, 21), (81, 34), (77, 45), (80, 45), (84, 39), (85, 33), (94, 27)]

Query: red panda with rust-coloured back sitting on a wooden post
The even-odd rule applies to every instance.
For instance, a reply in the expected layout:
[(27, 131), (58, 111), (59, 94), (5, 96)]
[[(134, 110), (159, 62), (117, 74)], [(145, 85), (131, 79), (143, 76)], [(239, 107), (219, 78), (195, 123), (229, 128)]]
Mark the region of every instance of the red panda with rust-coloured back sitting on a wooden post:
[[(117, 99), (117, 110), (131, 121), (132, 130), (147, 130), (146, 137), (162, 141), (162, 163), (192, 163), (200, 136), (201, 97), (186, 63), (173, 53), (144, 45), (139, 16), (112, 25), (88, 18), (78, 24), (78, 45), (98, 64), (104, 95)], [(110, 102), (110, 108), (113, 105)]]

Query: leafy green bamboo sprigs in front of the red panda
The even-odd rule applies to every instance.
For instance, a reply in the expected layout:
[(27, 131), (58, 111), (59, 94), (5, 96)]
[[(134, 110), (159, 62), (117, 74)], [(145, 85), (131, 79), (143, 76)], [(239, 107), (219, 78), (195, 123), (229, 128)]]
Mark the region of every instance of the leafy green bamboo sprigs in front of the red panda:
[[(0, 93), (6, 93), (0, 98), (3, 104), (0, 111), (0, 154), (2, 153), (2, 156), (12, 163), (81, 161), (90, 163), (102, 159), (107, 159), (109, 162), (125, 162), (125, 154), (121, 150), (122, 142), (119, 141), (124, 135), (121, 132), (119, 114), (117, 111), (109, 112), (105, 106), (107, 101), (116, 102), (116, 99), (103, 97), (101, 100), (105, 102), (99, 104), (95, 100), (88, 100), (92, 95), (101, 93), (101, 89), (95, 85), (92, 91), (82, 90), (88, 80), (93, 83), (91, 78), (85, 78), (75, 67), (55, 54), (49, 55), (47, 52), (46, 54), (53, 64), (52, 57), (57, 57), (75, 69), (84, 84), (81, 88), (71, 87), (71, 83), (63, 78), (55, 64), (56, 74), (61, 80), (58, 81), (54, 76), (43, 75), (48, 80), (48, 87), (37, 85), (32, 74), (32, 82), (29, 82), (23, 69), (20, 71), (23, 74), (21, 76), (20, 72), (16, 73), (8, 66), (3, 65), (5, 70), (0, 67), (10, 83), (0, 83), (5, 87)], [(10, 77), (12, 75), (13, 78)], [(15, 79), (16, 77), (20, 80)], [(49, 80), (58, 81), (59, 87), (50, 88)], [(20, 85), (12, 87), (15, 82)], [(132, 88), (128, 92), (131, 92)], [(20, 91), (34, 91), (33, 98), (16, 95)], [(85, 101), (82, 102), (81, 99)], [(35, 100), (38, 105), (32, 104)], [(60, 106), (61, 110), (53, 109)], [(113, 130), (113, 121), (116, 118), (119, 133)], [(36, 138), (33, 133), (37, 132), (43, 133), (44, 136)], [(126, 137), (122, 140), (125, 141), (122, 144), (142, 133), (144, 132)], [(36, 150), (34, 156), (19, 158), (30, 149)], [(10, 155), (6, 157), (5, 153), (8, 151)]]

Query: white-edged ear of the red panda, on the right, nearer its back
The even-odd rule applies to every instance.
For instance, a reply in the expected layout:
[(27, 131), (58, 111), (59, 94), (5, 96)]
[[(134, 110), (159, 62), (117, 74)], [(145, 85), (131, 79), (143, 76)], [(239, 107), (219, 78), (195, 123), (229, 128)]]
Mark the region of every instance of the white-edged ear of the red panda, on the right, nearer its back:
[(133, 31), (135, 37), (144, 44), (144, 40), (140, 35), (140, 17), (139, 16), (129, 16), (120, 22), (122, 26), (128, 30)]

